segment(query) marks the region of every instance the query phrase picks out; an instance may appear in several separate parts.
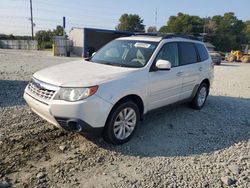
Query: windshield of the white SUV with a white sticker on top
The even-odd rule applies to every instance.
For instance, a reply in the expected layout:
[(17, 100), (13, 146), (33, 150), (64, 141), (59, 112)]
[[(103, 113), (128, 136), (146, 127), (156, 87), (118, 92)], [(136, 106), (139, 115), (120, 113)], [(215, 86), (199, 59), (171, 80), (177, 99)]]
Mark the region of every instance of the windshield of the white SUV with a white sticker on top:
[(101, 48), (90, 61), (140, 68), (147, 64), (157, 45), (157, 42), (114, 40)]

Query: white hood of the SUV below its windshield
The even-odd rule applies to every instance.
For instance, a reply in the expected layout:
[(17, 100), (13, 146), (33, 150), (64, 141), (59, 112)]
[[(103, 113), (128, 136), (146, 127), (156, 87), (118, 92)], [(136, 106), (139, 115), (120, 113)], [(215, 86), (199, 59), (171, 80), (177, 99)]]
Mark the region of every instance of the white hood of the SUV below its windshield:
[(33, 77), (61, 87), (87, 87), (117, 79), (136, 70), (80, 60), (45, 68)]

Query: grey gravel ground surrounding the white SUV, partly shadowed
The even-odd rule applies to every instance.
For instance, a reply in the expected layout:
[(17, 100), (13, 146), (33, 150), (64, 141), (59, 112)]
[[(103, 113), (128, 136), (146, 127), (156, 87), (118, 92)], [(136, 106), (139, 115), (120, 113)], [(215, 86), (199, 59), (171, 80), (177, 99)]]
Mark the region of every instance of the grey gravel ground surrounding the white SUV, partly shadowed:
[(250, 187), (250, 64), (216, 66), (202, 110), (151, 112), (113, 146), (55, 128), (22, 98), (35, 71), (74, 59), (0, 50), (0, 187)]

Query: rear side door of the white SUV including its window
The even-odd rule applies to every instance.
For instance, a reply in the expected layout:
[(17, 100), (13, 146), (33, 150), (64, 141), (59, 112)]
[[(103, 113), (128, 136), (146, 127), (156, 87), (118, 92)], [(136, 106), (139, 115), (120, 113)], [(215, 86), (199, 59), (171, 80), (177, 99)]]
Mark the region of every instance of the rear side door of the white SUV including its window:
[(182, 67), (182, 92), (180, 100), (190, 98), (193, 89), (200, 82), (203, 67), (199, 63), (199, 56), (192, 42), (179, 42), (179, 62)]

